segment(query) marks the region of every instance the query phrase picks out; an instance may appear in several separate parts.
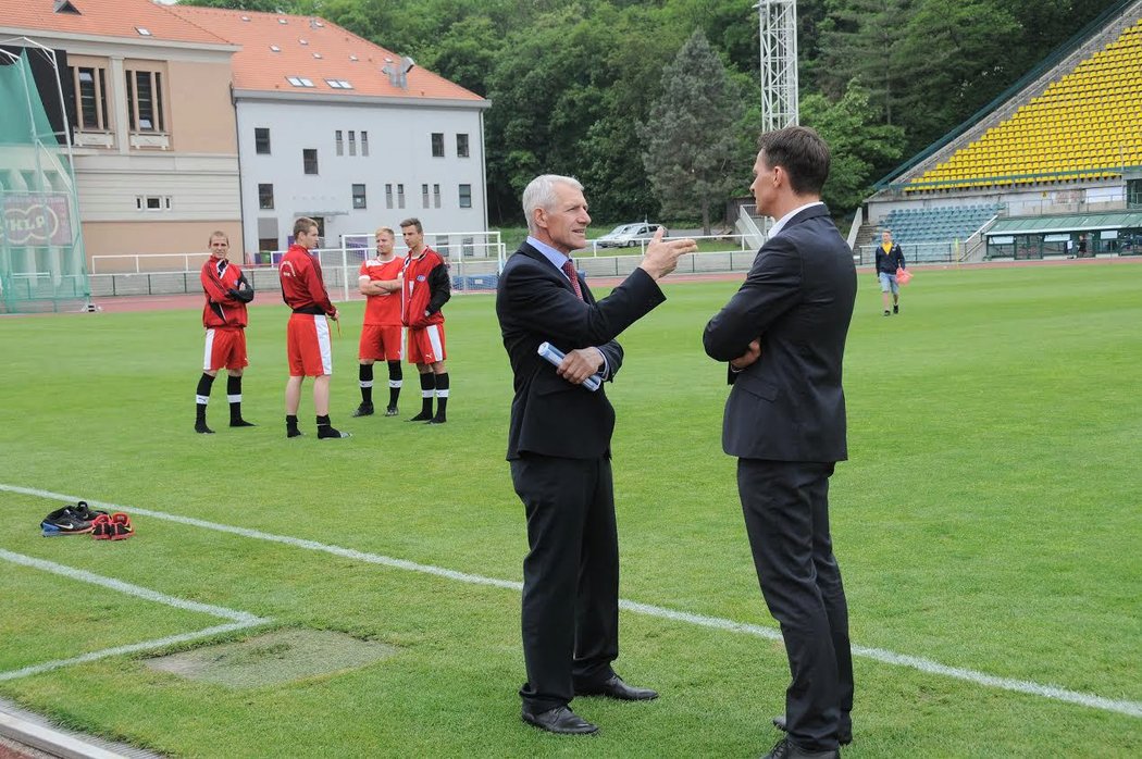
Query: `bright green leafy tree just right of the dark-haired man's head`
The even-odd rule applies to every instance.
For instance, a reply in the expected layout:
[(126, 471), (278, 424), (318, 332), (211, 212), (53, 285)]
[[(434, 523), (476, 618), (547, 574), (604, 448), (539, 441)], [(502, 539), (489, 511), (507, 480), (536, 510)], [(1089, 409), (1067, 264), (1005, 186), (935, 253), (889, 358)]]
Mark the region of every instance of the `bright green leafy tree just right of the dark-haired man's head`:
[(801, 122), (829, 144), (829, 180), (821, 199), (836, 215), (855, 210), (878, 178), (872, 175), (875, 168), (902, 154), (903, 129), (878, 122), (869, 105), (868, 89), (856, 80), (836, 102), (817, 92), (805, 96), (801, 100)]

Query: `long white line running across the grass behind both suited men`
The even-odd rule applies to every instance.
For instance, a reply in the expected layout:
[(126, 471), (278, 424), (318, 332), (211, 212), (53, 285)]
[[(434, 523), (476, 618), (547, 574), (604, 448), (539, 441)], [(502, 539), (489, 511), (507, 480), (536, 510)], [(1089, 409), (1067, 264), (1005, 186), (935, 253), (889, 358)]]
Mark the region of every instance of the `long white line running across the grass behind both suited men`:
[[(23, 493), (25, 495), (35, 495), (40, 498), (48, 498), (53, 500), (72, 502), (72, 503), (80, 500), (74, 495), (63, 495), (61, 493), (53, 493), (50, 491), (34, 490), (31, 487), (19, 487), (16, 485), (6, 485), (2, 483), (0, 483), (0, 491), (8, 491), (11, 493)], [(258, 530), (249, 530), (247, 527), (233, 527), (231, 525), (218, 524), (215, 522), (206, 522), (203, 519), (194, 519), (192, 517), (183, 517), (175, 514), (166, 514), (163, 511), (152, 511), (150, 509), (124, 507), (115, 503), (93, 501), (89, 499), (85, 500), (87, 500), (87, 502), (91, 506), (98, 506), (116, 511), (130, 511), (132, 514), (150, 516), (156, 519), (166, 519), (168, 522), (176, 522), (179, 524), (192, 525), (195, 527), (202, 527), (204, 530), (214, 530), (216, 532), (226, 532), (235, 535), (242, 535), (244, 538), (252, 538), (255, 540), (265, 540), (275, 543), (283, 543), (286, 546), (293, 546), (296, 548), (305, 548), (313, 551), (322, 551), (325, 554), (332, 554), (335, 556), (344, 556), (346, 558), (352, 558), (369, 564), (380, 564), (384, 566), (391, 566), (399, 570), (407, 570), (409, 572), (432, 574), (440, 578), (447, 578), (449, 580), (456, 580), (458, 582), (467, 582), (480, 586), (492, 586), (494, 588), (505, 588), (508, 590), (523, 589), (523, 583), (510, 580), (497, 580), (494, 578), (485, 578), (478, 574), (456, 572), (453, 570), (445, 570), (439, 566), (432, 566), (429, 564), (417, 564), (416, 562), (408, 562), (405, 559), (395, 559), (387, 556), (380, 556), (377, 554), (367, 554), (364, 551), (357, 551), (352, 548), (341, 548), (339, 546), (319, 543), (313, 540), (303, 540), (300, 538), (289, 538), (287, 535), (274, 535), (272, 533), (260, 532)], [(652, 604), (641, 604), (632, 600), (620, 600), (619, 607), (628, 612), (633, 612), (635, 614), (643, 614), (657, 619), (671, 620), (675, 622), (686, 622), (689, 624), (695, 624), (699, 627), (709, 628), (714, 630), (724, 630), (727, 632), (751, 635), (758, 638), (765, 638), (767, 640), (781, 640), (781, 632), (779, 630), (763, 627), (759, 624), (735, 622), (733, 620), (727, 620), (717, 616), (706, 616), (703, 614), (691, 614), (689, 612), (679, 612), (671, 608), (666, 608), (664, 606), (654, 606)], [(1088, 693), (1068, 691), (1067, 688), (1060, 688), (1053, 685), (1040, 685), (1031, 680), (1015, 680), (1005, 677), (996, 677), (994, 675), (988, 675), (986, 672), (980, 672), (978, 670), (965, 669), (962, 667), (948, 667), (947, 664), (941, 664), (940, 662), (933, 661), (931, 659), (924, 659), (922, 656), (898, 654), (895, 652), (886, 651), (884, 648), (853, 646), (852, 652), (853, 656), (870, 659), (872, 661), (882, 662), (885, 664), (893, 664), (896, 667), (908, 667), (910, 669), (919, 670), (920, 672), (925, 672), (928, 675), (942, 675), (944, 677), (950, 677), (957, 680), (965, 680), (967, 683), (973, 683), (975, 685), (999, 688), (1003, 691), (1011, 691), (1014, 693), (1024, 693), (1028, 695), (1051, 699), (1053, 701), (1063, 701), (1067, 703), (1078, 704), (1080, 706), (1088, 706), (1091, 709), (1113, 711), (1121, 714), (1127, 714), (1129, 717), (1142, 717), (1142, 702), (1137, 701), (1105, 699), (1103, 696), (1097, 696)]]

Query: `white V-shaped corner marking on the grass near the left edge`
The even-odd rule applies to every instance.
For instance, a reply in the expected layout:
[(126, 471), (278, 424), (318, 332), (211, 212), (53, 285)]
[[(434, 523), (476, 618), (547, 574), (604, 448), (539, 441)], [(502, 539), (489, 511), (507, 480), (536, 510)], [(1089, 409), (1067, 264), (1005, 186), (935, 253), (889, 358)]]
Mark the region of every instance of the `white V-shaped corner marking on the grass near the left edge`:
[[(0, 485), (0, 490), (7, 490), (7, 488), (3, 485)], [(122, 582), (121, 580), (115, 580), (114, 578), (105, 578), (103, 575), (95, 574), (94, 572), (88, 572), (86, 570), (77, 570), (70, 566), (64, 566), (63, 564), (56, 564), (55, 562), (46, 562), (43, 559), (33, 558), (31, 556), (24, 556), (23, 554), (13, 554), (11, 551), (7, 551), (2, 548), (0, 548), (0, 559), (10, 562), (11, 564), (19, 564), (22, 566), (32, 567), (34, 570), (41, 570), (43, 572), (51, 572), (54, 574), (59, 574), (70, 580), (79, 580), (80, 582), (89, 582), (94, 586), (102, 586), (103, 588), (118, 590), (121, 594), (126, 594), (128, 596), (135, 596), (136, 598), (152, 600), (159, 604), (174, 606), (176, 608), (182, 608), (188, 612), (200, 612), (202, 614), (210, 614), (211, 616), (220, 616), (225, 620), (232, 620), (228, 624), (218, 624), (212, 628), (207, 628), (204, 630), (196, 630), (194, 632), (172, 635), (166, 638), (159, 638), (156, 640), (143, 640), (142, 643), (132, 643), (126, 646), (115, 646), (114, 648), (93, 651), (91, 653), (82, 654), (80, 656), (73, 656), (71, 659), (57, 659), (55, 661), (45, 662), (42, 664), (32, 664), (31, 667), (25, 667), (18, 670), (0, 672), (0, 683), (5, 680), (15, 680), (17, 678), (27, 677), (29, 675), (50, 672), (51, 670), (57, 670), (63, 667), (70, 667), (72, 664), (94, 662), (99, 659), (106, 659), (107, 656), (118, 656), (121, 654), (135, 654), (140, 651), (153, 651), (155, 648), (162, 648), (164, 646), (169, 646), (177, 643), (186, 643), (187, 640), (198, 640), (199, 638), (208, 638), (210, 636), (219, 635), (223, 632), (243, 630), (246, 628), (257, 627), (259, 624), (265, 624), (270, 622), (270, 620), (267, 619), (255, 616), (254, 614), (250, 614), (248, 612), (239, 612), (232, 608), (225, 608), (224, 606), (212, 606), (210, 604), (200, 604), (198, 601), (186, 600), (184, 598), (175, 598), (174, 596), (167, 596), (164, 594), (160, 594), (148, 588), (132, 586), (129, 582)]]

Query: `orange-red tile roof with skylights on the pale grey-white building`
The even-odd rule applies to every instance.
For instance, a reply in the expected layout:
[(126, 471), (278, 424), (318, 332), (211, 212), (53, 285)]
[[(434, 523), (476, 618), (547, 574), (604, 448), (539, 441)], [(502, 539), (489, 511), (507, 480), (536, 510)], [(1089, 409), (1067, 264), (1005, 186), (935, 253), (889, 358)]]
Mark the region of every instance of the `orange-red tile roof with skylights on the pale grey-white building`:
[[(236, 90), (483, 102), (420, 66), (409, 71), (408, 89), (393, 84), (381, 68), (388, 62), (401, 65), (399, 54), (320, 17), (193, 6), (171, 6), (170, 11), (242, 46), (233, 58)], [(287, 76), (307, 79), (313, 87), (295, 87)], [(352, 89), (327, 80), (346, 81)]]

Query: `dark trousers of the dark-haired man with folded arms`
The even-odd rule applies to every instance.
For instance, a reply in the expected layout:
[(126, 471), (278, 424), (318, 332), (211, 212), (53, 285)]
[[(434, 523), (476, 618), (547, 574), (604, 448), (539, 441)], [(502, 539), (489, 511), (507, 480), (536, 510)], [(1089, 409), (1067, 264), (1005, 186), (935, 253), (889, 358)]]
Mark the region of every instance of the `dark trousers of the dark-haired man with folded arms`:
[(833, 463), (738, 460), (738, 492), (762, 596), (781, 624), (789, 672), (786, 725), (807, 751), (852, 729), (849, 604), (829, 536)]

